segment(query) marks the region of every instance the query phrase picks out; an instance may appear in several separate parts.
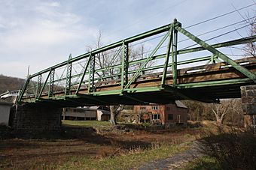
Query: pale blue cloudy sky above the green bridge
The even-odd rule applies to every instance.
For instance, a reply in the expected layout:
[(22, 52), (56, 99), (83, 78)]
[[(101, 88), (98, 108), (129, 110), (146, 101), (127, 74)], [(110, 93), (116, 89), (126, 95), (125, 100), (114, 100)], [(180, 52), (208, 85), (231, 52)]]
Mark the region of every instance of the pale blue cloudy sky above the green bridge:
[[(0, 0), (0, 74), (25, 78), (28, 66), (31, 73), (35, 73), (65, 61), (69, 53), (73, 57), (80, 55), (86, 52), (86, 46), (95, 43), (99, 30), (102, 31), (104, 43), (114, 43), (166, 25), (174, 18), (186, 27), (253, 4), (254, 1)], [(240, 13), (253, 16), (254, 9), (256, 5)], [(189, 31), (200, 34), (240, 20), (242, 16), (239, 13), (232, 13)], [(236, 27), (239, 25), (230, 29)]]

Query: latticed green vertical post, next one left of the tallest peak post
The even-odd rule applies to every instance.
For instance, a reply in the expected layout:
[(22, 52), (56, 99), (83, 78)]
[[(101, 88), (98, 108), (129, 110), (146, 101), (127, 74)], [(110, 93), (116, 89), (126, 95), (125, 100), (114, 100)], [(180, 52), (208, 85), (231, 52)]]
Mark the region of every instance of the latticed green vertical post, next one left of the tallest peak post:
[(129, 67), (129, 56), (128, 56), (128, 44), (123, 41), (122, 46), (122, 67), (121, 67), (121, 88), (128, 82), (128, 67)]

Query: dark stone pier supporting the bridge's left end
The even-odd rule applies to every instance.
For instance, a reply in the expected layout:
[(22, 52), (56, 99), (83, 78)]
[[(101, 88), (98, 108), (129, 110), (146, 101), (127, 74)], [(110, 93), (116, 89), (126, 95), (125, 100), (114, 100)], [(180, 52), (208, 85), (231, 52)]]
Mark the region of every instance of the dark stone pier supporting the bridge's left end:
[(53, 106), (14, 106), (13, 128), (17, 133), (58, 132), (61, 127), (62, 109)]

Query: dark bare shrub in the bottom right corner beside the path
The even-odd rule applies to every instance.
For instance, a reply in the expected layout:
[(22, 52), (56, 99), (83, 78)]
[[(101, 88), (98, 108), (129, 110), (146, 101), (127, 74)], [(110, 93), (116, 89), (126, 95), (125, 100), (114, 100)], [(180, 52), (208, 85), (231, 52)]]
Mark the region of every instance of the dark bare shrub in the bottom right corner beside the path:
[(256, 169), (256, 136), (251, 133), (207, 133), (199, 145), (200, 152), (214, 158), (221, 169)]

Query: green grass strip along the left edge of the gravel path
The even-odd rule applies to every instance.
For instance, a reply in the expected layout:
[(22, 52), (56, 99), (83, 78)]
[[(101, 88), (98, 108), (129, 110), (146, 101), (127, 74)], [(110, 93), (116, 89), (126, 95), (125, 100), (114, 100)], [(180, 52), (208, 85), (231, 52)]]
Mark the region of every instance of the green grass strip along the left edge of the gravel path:
[[(78, 159), (73, 157), (71, 161), (62, 166), (56, 166), (56, 169), (136, 169), (145, 163), (167, 158), (189, 148), (187, 145), (169, 145), (160, 148), (150, 148), (145, 151), (132, 150), (127, 154), (117, 157), (105, 157), (99, 160), (84, 157)], [(73, 161), (76, 160), (76, 161)]]

